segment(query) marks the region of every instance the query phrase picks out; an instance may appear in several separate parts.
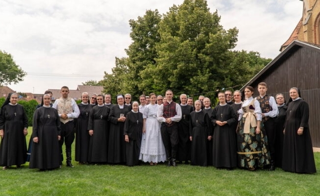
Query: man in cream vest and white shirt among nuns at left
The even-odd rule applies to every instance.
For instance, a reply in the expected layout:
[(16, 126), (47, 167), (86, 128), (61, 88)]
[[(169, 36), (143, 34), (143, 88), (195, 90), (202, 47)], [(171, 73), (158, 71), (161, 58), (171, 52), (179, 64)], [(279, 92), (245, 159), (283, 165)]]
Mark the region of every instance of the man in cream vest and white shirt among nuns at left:
[(62, 146), (65, 142), (67, 167), (74, 168), (71, 163), (71, 145), (74, 142), (74, 119), (78, 118), (80, 111), (73, 98), (68, 98), (69, 88), (63, 86), (61, 88), (61, 98), (58, 98), (53, 103), (53, 108), (58, 110), (58, 114), (61, 122), (61, 139), (59, 141), (60, 146), (60, 167), (63, 161)]

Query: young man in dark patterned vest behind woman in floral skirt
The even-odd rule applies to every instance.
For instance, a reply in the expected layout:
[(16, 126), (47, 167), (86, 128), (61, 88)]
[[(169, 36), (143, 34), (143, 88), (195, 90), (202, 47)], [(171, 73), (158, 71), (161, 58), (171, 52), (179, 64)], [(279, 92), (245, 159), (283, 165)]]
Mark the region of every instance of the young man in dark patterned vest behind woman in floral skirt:
[(260, 107), (262, 111), (262, 123), (265, 126), (266, 134), (268, 137), (271, 166), (270, 171), (275, 170), (275, 160), (274, 160), (274, 143), (275, 143), (275, 127), (273, 118), (276, 117), (279, 113), (277, 103), (275, 99), (267, 95), (267, 83), (260, 82), (258, 84), (259, 96), (256, 97), (256, 100), (260, 102)]

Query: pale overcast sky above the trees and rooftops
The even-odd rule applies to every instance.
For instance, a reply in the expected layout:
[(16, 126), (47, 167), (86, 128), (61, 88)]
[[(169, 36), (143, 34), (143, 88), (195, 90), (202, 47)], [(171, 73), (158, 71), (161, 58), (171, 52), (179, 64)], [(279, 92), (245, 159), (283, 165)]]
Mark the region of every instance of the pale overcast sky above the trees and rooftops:
[[(0, 0), (0, 50), (13, 55), (24, 81), (17, 92), (44, 93), (111, 73), (126, 56), (130, 19), (164, 14), (183, 0)], [(275, 58), (302, 17), (300, 0), (208, 0), (225, 29), (239, 29), (235, 49)]]

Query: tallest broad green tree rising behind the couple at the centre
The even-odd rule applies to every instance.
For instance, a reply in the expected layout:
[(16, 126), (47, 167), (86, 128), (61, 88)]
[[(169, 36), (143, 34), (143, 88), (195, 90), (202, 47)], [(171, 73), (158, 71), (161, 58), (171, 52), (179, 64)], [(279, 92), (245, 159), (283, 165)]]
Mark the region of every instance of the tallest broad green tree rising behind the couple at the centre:
[(156, 66), (149, 66), (143, 78), (152, 75), (157, 90), (170, 88), (176, 94), (208, 92), (229, 85), (225, 75), (238, 30), (224, 30), (219, 22), (218, 12), (210, 13), (205, 0), (173, 5), (159, 24)]

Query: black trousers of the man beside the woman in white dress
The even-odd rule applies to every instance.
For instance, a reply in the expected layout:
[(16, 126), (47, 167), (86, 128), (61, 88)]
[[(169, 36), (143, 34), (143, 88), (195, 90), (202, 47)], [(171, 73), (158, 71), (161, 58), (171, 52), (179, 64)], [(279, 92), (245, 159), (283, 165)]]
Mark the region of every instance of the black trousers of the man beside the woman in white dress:
[(162, 123), (161, 137), (166, 149), (167, 158), (175, 160), (179, 142), (178, 124), (174, 123), (172, 126), (167, 126), (166, 123)]

